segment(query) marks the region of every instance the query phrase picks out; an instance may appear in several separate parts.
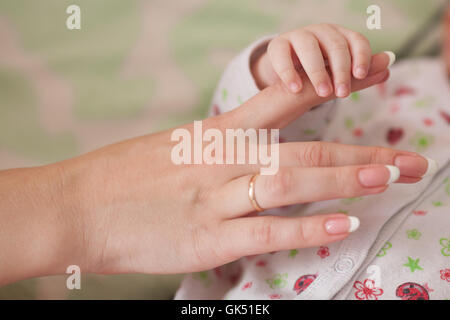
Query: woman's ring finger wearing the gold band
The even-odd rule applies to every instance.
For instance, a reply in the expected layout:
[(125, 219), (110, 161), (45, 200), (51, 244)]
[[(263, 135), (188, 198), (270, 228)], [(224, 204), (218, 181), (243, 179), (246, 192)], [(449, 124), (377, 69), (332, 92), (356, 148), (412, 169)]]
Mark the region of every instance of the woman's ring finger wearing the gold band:
[[(377, 194), (400, 176), (390, 165), (322, 168), (282, 167), (274, 175), (254, 180), (254, 200), (263, 209), (339, 198)], [(241, 216), (255, 210), (249, 198), (252, 175), (234, 179), (219, 192), (220, 207), (227, 216)], [(234, 201), (229, 201), (234, 199)]]

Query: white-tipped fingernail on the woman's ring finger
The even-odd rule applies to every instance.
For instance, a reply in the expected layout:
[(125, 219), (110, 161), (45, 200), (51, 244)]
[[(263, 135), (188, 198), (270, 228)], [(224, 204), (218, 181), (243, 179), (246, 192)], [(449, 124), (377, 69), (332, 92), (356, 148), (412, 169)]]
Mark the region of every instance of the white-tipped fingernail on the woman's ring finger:
[(395, 182), (400, 177), (400, 170), (394, 166), (372, 167), (359, 170), (359, 182), (364, 187), (382, 187)]

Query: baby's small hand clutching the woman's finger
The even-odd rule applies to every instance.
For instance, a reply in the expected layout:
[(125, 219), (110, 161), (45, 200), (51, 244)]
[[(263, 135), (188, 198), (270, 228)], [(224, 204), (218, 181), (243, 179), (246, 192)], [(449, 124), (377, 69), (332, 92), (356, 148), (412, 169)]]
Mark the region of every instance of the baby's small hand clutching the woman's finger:
[[(393, 53), (388, 53), (391, 62)], [(372, 50), (362, 34), (333, 24), (317, 24), (286, 32), (270, 41), (265, 52), (252, 66), (260, 88), (279, 79), (293, 93), (303, 84), (298, 73), (307, 74), (320, 97), (335, 92), (346, 97), (351, 92), (351, 77), (364, 79), (369, 71)], [(327, 71), (330, 69), (330, 74)]]

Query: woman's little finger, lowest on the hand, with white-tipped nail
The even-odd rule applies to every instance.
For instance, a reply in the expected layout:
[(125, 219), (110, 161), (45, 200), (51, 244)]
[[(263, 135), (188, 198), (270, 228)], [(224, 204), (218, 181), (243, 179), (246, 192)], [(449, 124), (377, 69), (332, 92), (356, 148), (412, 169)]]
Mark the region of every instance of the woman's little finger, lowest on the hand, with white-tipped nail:
[(235, 260), (340, 241), (358, 227), (358, 218), (339, 213), (300, 218), (245, 217), (224, 221), (218, 242), (229, 259)]

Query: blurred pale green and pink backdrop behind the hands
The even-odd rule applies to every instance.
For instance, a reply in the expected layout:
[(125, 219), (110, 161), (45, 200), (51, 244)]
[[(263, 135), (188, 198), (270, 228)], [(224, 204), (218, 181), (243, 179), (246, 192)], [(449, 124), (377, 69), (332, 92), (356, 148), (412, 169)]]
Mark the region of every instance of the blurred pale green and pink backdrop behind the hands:
[[(227, 62), (258, 37), (320, 22), (398, 52), (445, 0), (0, 0), (0, 169), (58, 161), (206, 115)], [(66, 8), (81, 8), (68, 30)], [(381, 30), (366, 9), (381, 7)], [(432, 52), (438, 30), (408, 55)], [(181, 276), (65, 276), (1, 299), (170, 299)]]

